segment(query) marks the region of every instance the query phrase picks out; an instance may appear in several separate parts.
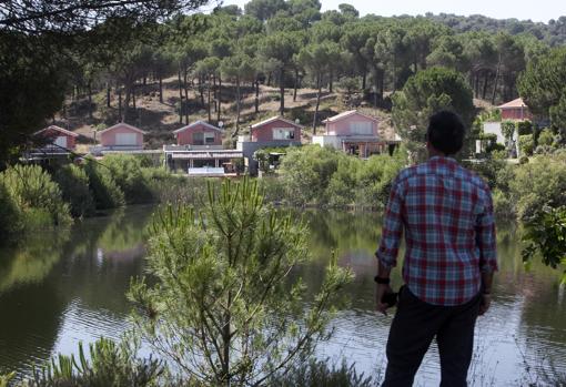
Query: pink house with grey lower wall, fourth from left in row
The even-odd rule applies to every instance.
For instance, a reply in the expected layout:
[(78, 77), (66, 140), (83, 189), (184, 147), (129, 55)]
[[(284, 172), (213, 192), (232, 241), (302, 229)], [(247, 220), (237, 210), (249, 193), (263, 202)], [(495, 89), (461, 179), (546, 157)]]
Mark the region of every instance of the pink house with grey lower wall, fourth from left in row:
[(300, 146), (303, 125), (280, 115), (250, 126), (250, 135), (237, 139), (237, 151), (242, 152), (244, 165), (251, 175), (257, 174), (255, 152), (265, 147)]

